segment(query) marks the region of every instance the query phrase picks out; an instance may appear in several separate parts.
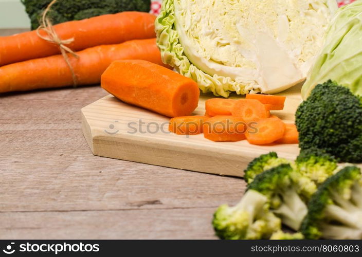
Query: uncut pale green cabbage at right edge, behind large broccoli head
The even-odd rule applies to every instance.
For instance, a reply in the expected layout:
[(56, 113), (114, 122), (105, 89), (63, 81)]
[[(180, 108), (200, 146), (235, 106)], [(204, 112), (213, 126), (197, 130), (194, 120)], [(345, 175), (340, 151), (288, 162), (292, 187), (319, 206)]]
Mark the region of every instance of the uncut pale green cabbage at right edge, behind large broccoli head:
[(306, 99), (327, 80), (362, 95), (362, 1), (340, 8), (325, 33), (324, 46), (302, 87)]

